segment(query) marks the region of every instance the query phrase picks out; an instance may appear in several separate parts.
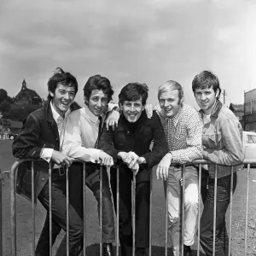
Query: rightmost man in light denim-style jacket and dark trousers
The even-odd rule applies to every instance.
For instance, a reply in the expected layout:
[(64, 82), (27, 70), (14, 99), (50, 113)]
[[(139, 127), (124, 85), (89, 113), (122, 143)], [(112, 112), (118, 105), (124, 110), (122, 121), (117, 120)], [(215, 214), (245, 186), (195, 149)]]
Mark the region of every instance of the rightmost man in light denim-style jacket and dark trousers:
[[(192, 81), (195, 101), (201, 108), (203, 119), (203, 158), (211, 160), (217, 166), (217, 211), (215, 255), (224, 256), (229, 253), (229, 238), (225, 223), (225, 213), (230, 204), (230, 189), (233, 182), (233, 193), (236, 189), (236, 172), (241, 169), (244, 160), (241, 143), (241, 124), (234, 113), (218, 101), (220, 87), (218, 77), (203, 71)], [(231, 166), (234, 166), (233, 181)], [(214, 177), (215, 166), (206, 166), (201, 178), (201, 197), (204, 210), (201, 215), (201, 247), (206, 255), (213, 252), (213, 218), (214, 218)]]

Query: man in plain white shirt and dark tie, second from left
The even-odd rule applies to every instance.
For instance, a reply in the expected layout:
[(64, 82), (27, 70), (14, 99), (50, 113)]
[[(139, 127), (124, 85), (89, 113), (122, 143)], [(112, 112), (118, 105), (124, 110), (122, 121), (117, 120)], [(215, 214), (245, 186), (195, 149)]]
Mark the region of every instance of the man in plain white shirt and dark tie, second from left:
[[(113, 96), (110, 81), (100, 75), (90, 77), (84, 85), (85, 107), (73, 111), (67, 119), (67, 130), (63, 144), (64, 152), (72, 158), (90, 161), (86, 163), (86, 186), (93, 192), (98, 202), (100, 213), (100, 166), (113, 166), (113, 158), (97, 149), (98, 137), (109, 113), (113, 119), (108, 125), (115, 125), (119, 113), (108, 108), (108, 102)], [(116, 106), (118, 107), (118, 106)], [(75, 169), (75, 170), (73, 170)], [(83, 168), (80, 163), (71, 167), (73, 188), (70, 192), (70, 201), (83, 218)], [(73, 173), (73, 174), (72, 174)], [(75, 184), (75, 185), (74, 185)], [(102, 169), (102, 241), (103, 255), (113, 255), (114, 220), (111, 192), (108, 185), (108, 173)]]

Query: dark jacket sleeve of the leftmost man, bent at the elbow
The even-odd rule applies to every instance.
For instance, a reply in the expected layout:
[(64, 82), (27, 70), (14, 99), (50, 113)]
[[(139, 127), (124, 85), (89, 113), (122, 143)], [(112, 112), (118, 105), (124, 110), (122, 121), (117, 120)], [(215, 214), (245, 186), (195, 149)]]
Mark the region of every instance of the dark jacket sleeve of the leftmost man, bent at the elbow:
[(41, 133), (38, 120), (30, 114), (12, 145), (14, 156), (20, 159), (38, 159), (42, 148), (54, 148), (54, 145), (41, 140)]

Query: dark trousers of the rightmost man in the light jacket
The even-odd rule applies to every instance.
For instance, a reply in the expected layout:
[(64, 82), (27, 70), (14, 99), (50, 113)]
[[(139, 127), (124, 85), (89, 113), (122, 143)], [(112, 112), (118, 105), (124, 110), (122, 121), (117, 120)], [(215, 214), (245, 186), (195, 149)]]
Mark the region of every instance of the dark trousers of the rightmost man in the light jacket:
[[(231, 175), (219, 177), (217, 181), (217, 206), (216, 206), (216, 237), (215, 255), (228, 255), (229, 237), (226, 229), (225, 214), (230, 205)], [(234, 173), (233, 193), (236, 189), (237, 176)], [(204, 209), (201, 215), (201, 247), (206, 255), (212, 256), (213, 252), (213, 209), (214, 209), (214, 178), (208, 172), (202, 171), (201, 198)]]

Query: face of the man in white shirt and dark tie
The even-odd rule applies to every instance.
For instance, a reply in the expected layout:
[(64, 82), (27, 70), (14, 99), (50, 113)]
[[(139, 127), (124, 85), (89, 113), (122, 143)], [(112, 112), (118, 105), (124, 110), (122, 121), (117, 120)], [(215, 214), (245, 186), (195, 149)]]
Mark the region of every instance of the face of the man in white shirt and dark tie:
[(85, 103), (91, 113), (100, 116), (108, 107), (108, 95), (102, 90), (92, 90), (90, 98), (85, 98)]

